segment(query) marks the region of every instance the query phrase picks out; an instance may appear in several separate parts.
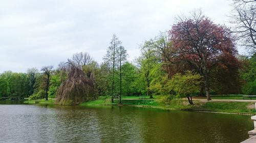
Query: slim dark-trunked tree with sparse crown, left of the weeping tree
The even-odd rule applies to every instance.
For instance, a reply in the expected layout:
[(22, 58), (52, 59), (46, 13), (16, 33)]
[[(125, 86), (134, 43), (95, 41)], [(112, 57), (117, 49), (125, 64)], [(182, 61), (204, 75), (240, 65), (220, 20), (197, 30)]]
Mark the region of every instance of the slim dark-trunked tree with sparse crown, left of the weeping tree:
[(42, 75), (44, 75), (44, 77), (43, 77), (44, 83), (46, 85), (46, 87), (45, 87), (46, 100), (48, 100), (48, 90), (49, 90), (49, 86), (50, 86), (50, 76), (51, 76), (52, 69), (53, 69), (53, 66), (45, 66), (45, 67), (41, 68)]

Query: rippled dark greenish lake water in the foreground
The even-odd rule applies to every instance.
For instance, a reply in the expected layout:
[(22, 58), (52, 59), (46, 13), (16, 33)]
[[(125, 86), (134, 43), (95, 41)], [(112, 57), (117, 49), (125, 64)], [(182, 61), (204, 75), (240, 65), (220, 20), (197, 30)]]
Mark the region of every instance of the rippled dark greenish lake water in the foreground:
[(0, 105), (0, 142), (240, 142), (250, 116), (140, 107)]

